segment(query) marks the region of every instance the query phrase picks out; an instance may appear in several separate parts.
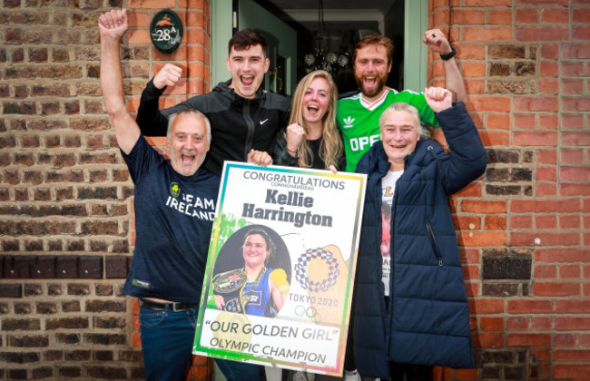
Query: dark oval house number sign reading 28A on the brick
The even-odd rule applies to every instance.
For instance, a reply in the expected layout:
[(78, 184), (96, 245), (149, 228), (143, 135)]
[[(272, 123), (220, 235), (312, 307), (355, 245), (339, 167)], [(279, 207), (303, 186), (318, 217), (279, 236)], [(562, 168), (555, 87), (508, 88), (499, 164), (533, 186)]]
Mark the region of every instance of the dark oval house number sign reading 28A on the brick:
[(162, 53), (172, 53), (182, 42), (182, 21), (172, 10), (164, 9), (152, 18), (152, 44)]

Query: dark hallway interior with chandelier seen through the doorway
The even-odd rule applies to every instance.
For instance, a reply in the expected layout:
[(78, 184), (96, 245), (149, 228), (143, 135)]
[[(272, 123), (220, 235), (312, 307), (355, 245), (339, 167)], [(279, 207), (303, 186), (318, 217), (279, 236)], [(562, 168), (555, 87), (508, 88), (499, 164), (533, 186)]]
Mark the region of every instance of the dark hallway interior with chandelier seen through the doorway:
[[(404, 88), (404, 1), (254, 1), (297, 31), (297, 82), (310, 70), (323, 68), (332, 74), (339, 93), (355, 91), (357, 83), (352, 69), (355, 45), (366, 34), (382, 32), (395, 44), (387, 84), (398, 90)], [(330, 53), (335, 55), (326, 59)], [(324, 60), (320, 64), (322, 56)], [(314, 57), (313, 64), (310, 64), (311, 57)], [(348, 63), (343, 65), (347, 57)]]

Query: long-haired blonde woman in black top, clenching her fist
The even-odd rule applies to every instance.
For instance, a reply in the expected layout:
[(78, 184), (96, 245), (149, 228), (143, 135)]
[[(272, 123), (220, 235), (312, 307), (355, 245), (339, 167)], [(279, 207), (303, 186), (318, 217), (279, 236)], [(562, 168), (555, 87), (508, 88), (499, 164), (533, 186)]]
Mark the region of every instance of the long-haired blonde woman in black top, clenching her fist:
[(337, 101), (338, 90), (328, 72), (316, 70), (303, 77), (295, 90), (289, 125), (277, 135), (274, 164), (343, 171)]

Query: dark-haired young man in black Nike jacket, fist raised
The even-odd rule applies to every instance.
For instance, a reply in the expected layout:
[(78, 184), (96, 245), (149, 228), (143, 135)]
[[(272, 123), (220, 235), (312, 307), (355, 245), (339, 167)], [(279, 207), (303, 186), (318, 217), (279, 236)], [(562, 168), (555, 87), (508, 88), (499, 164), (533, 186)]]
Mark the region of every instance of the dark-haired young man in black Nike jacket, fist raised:
[(211, 121), (211, 149), (203, 168), (221, 175), (223, 161), (246, 161), (248, 153), (271, 151), (277, 132), (289, 122), (290, 99), (261, 89), (269, 70), (265, 38), (253, 29), (231, 37), (226, 59), (231, 80), (221, 82), (211, 93), (196, 95), (176, 106), (159, 110), (166, 86), (181, 79), (182, 69), (166, 64), (142, 93), (137, 123), (144, 135), (164, 136), (168, 115), (184, 107), (205, 114)]

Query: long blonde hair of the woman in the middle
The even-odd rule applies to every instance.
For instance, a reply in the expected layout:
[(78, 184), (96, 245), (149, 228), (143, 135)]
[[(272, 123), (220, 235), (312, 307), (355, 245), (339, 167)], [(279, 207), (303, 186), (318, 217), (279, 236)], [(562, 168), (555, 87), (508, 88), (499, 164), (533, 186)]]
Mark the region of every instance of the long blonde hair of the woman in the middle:
[(338, 102), (338, 89), (336, 84), (332, 80), (331, 75), (323, 70), (316, 70), (304, 76), (300, 83), (297, 85), (295, 95), (293, 96), (293, 106), (290, 112), (289, 124), (297, 123), (305, 129), (306, 135), (300, 142), (300, 146), (297, 148), (297, 156), (299, 160), (297, 164), (300, 167), (311, 167), (313, 163), (313, 152), (311, 152), (310, 145), (307, 142), (307, 128), (303, 121), (302, 103), (303, 95), (306, 90), (310, 87), (311, 82), (316, 78), (323, 78), (326, 80), (329, 86), (329, 102), (328, 110), (323, 117), (323, 126), (321, 130), (321, 145), (320, 145), (320, 156), (321, 160), (324, 161), (326, 169), (329, 169), (330, 165), (338, 168), (339, 157), (342, 156), (343, 144), (340, 134), (336, 128), (336, 103)]

